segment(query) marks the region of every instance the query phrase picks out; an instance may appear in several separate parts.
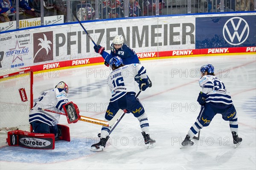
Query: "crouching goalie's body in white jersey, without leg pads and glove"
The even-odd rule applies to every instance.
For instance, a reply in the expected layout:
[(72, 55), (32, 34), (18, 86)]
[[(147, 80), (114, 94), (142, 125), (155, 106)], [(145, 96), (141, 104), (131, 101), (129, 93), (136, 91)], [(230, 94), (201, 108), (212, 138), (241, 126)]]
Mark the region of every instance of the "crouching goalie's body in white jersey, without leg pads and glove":
[(59, 82), (54, 89), (44, 91), (35, 102), (29, 113), (29, 123), (32, 125), (34, 133), (53, 133), (58, 137), (58, 122), (60, 114), (38, 110), (38, 108), (51, 111), (64, 112), (63, 105), (68, 103), (68, 86), (65, 82)]

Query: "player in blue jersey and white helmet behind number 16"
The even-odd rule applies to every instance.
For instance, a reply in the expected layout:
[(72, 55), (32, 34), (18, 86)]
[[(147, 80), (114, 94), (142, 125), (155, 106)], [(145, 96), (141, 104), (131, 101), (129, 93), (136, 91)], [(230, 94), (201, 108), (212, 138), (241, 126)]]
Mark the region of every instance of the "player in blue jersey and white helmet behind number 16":
[[(108, 63), (109, 63), (110, 59), (113, 57), (116, 57), (116, 56), (118, 56), (122, 59), (124, 65), (140, 63), (140, 60), (139, 60), (137, 54), (135, 53), (135, 51), (132, 50), (130, 47), (128, 47), (128, 45), (126, 45), (124, 43), (124, 37), (122, 37), (122, 35), (116, 35), (116, 37), (114, 37), (113, 43), (111, 44), (111, 53), (110, 54), (108, 54), (105, 51), (105, 48), (100, 45), (94, 45), (93, 48), (96, 53), (101, 54), (102, 57), (105, 59), (104, 64), (106, 66), (109, 65)], [(135, 80), (137, 82), (139, 82), (140, 77), (136, 76)], [(148, 78), (148, 82), (149, 82), (149, 87), (151, 87), (152, 82), (149, 78)]]

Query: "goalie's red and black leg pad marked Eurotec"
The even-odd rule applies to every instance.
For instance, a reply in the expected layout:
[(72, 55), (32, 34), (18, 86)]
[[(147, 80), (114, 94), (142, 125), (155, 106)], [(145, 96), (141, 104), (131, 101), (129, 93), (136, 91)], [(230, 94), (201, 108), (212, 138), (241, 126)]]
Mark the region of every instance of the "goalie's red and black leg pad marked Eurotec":
[(55, 138), (52, 133), (30, 133), (23, 130), (8, 132), (6, 139), (9, 146), (20, 146), (29, 149), (54, 149)]

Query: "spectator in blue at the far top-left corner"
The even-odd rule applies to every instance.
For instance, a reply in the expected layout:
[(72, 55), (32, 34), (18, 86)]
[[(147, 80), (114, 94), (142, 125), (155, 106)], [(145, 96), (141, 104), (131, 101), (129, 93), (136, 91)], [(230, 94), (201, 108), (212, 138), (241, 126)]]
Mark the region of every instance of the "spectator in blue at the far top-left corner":
[(16, 13), (11, 0), (0, 0), (0, 22), (9, 22), (9, 14)]

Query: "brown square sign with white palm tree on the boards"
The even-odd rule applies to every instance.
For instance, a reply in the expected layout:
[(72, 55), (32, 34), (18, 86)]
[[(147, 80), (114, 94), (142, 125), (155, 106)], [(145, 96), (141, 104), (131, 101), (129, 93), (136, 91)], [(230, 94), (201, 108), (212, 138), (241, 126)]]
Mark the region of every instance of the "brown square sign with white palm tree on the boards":
[(34, 63), (53, 60), (53, 33), (42, 32), (33, 34)]

